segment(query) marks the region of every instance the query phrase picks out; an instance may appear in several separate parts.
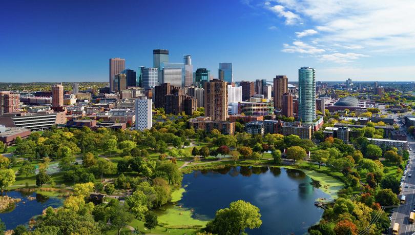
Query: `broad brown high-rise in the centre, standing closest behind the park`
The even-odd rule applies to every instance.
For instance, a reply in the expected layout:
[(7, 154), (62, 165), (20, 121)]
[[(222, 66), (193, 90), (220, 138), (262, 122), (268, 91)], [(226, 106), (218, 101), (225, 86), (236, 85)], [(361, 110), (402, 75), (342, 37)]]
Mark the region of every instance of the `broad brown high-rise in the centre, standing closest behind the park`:
[(212, 120), (226, 121), (227, 82), (214, 79), (204, 84), (204, 115)]

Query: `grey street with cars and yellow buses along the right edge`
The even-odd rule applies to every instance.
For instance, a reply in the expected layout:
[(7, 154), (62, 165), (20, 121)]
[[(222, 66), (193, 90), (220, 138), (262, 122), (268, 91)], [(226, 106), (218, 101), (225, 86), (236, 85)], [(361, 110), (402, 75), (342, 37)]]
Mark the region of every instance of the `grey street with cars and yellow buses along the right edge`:
[[(405, 126), (398, 120), (396, 115), (393, 115), (393, 118), (397, 121), (397, 124), (401, 127), (401, 130), (405, 131)], [(402, 126), (401, 126), (402, 125)], [(412, 150), (415, 150), (415, 140), (407, 136), (407, 141), (409, 147)], [(407, 169), (407, 174), (405, 176), (405, 180), (402, 184), (401, 195), (406, 196), (406, 204), (400, 205), (399, 207), (395, 208), (395, 212), (392, 214), (391, 219), (391, 227), (389, 232), (391, 232), (391, 228), (394, 223), (400, 224), (399, 234), (411, 235), (415, 232), (415, 224), (409, 223), (409, 213), (415, 206), (415, 153), (409, 151), (410, 159)], [(412, 174), (412, 177), (408, 177), (408, 174)], [(405, 187), (408, 188), (405, 188)]]

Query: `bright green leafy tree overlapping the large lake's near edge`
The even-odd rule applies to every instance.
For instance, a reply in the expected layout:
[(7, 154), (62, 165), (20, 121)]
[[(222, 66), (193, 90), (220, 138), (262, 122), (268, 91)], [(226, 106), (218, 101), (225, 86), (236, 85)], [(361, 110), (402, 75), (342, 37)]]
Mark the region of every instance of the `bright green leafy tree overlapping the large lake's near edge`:
[(239, 200), (232, 202), (229, 208), (216, 211), (215, 219), (206, 225), (206, 230), (217, 234), (241, 234), (245, 228), (258, 228), (261, 224), (259, 208)]

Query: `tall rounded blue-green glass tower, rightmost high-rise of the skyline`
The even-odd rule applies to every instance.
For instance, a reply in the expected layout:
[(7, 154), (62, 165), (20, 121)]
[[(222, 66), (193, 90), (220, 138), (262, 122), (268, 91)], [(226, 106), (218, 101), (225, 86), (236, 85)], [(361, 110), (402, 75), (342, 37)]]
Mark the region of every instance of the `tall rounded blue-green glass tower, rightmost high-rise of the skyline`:
[(316, 70), (301, 67), (298, 70), (298, 117), (304, 123), (316, 118)]

